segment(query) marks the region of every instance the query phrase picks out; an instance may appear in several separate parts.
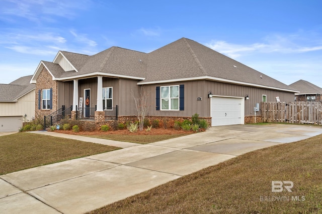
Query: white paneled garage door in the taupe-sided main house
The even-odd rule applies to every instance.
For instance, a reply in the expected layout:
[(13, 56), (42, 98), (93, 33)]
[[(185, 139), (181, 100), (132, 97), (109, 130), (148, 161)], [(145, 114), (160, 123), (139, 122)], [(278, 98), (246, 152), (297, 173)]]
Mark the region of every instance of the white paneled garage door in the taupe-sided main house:
[(244, 124), (244, 99), (232, 97), (211, 98), (211, 126)]

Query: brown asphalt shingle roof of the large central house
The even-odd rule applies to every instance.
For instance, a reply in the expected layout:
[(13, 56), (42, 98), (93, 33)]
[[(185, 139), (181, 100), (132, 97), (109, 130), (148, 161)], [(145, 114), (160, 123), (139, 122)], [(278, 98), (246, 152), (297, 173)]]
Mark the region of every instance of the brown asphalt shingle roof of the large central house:
[(65, 51), (61, 53), (78, 72), (65, 72), (58, 64), (44, 62), (55, 78), (72, 79), (75, 76), (90, 76), (91, 73), (100, 72), (107, 76), (145, 78), (140, 81), (144, 84), (211, 77), (294, 90), (291, 86), (186, 38), (148, 54), (119, 47), (111, 47), (93, 56)]

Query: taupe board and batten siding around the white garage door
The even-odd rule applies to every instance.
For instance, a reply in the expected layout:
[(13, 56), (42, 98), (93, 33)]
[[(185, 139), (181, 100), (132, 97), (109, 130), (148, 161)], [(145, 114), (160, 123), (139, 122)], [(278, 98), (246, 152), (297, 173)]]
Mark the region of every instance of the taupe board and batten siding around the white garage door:
[[(184, 85), (184, 111), (162, 111), (155, 109), (155, 88), (157, 86), (172, 86), (172, 85)], [(214, 96), (223, 97), (239, 97), (245, 98), (247, 95), (249, 100), (245, 100), (245, 116), (254, 115), (254, 107), (256, 103), (262, 102), (262, 95), (267, 96), (267, 102), (276, 101), (276, 97), (280, 98), (281, 102), (294, 101), (294, 93), (277, 91), (264, 88), (256, 88), (244, 85), (234, 85), (223, 82), (215, 82), (208, 80), (200, 81), (188, 81), (188, 82), (174, 82), (155, 85), (144, 85), (146, 91), (149, 91), (148, 103), (149, 115), (154, 116), (178, 116), (178, 117), (191, 117), (197, 113), (200, 117), (210, 117), (210, 98), (208, 98), (208, 92)], [(197, 101), (198, 97), (202, 100)], [(258, 115), (260, 112), (257, 113)]]

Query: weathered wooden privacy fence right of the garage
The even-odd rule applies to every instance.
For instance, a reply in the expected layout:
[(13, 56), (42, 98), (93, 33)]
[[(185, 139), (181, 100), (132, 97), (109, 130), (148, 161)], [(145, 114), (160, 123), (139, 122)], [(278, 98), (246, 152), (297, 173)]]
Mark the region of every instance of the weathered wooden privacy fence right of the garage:
[(322, 102), (262, 102), (263, 122), (322, 124)]

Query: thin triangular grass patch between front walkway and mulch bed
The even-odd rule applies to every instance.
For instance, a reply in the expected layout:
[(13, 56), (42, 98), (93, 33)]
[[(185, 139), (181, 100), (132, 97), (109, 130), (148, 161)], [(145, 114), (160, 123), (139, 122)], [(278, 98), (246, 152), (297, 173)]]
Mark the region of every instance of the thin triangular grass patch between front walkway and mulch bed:
[(186, 136), (191, 133), (183, 133), (183, 134), (159, 134), (159, 135), (127, 135), (127, 134), (100, 134), (100, 135), (92, 135), (89, 137), (103, 138), (109, 140), (117, 140), (124, 142), (132, 142), (132, 143), (153, 143), (162, 140), (168, 140), (176, 137)]

